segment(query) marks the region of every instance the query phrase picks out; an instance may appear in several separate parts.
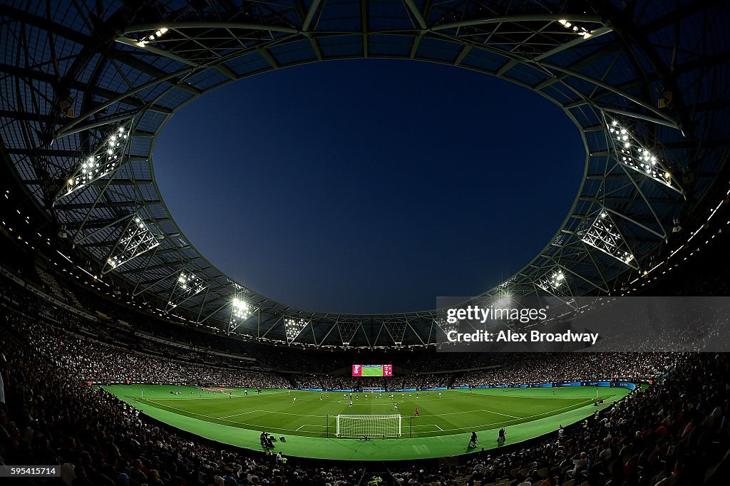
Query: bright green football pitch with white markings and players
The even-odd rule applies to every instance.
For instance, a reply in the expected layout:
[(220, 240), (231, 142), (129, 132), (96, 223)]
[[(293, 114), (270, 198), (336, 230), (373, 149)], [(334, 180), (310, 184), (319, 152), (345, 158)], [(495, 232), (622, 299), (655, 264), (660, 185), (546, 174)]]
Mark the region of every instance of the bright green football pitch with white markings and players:
[[(479, 434), (476, 450), (498, 447), (496, 432), (504, 427), (507, 444), (556, 431), (626, 396), (629, 390), (610, 387), (487, 388), (397, 392), (372, 395), (255, 388), (224, 391), (170, 385), (104, 387), (161, 422), (215, 441), (263, 450), (259, 435), (285, 436), (275, 450), (285, 455), (338, 460), (406, 460), (473, 452), (467, 449), (472, 431)], [(596, 407), (598, 396), (605, 404)], [(179, 392), (174, 394), (171, 392)], [(202, 394), (201, 394), (202, 393)], [(231, 396), (229, 396), (231, 393)], [(357, 396), (358, 398), (355, 398)], [(296, 397), (296, 401), (293, 398)], [(321, 399), (320, 399), (321, 397)], [(393, 409), (398, 404), (397, 411)], [(415, 408), (420, 417), (412, 417)], [(335, 437), (338, 414), (401, 414), (397, 439)]]

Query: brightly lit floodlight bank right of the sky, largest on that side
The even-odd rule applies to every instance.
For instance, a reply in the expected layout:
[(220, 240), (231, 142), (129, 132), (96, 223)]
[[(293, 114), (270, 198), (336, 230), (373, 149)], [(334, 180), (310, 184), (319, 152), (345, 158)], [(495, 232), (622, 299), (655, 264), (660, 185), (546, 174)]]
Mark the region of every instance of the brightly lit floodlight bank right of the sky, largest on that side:
[(645, 177), (666, 185), (678, 193), (682, 192), (672, 171), (661, 161), (656, 151), (645, 147), (624, 123), (607, 118), (607, 132), (613, 146), (614, 158), (623, 166), (639, 172)]

